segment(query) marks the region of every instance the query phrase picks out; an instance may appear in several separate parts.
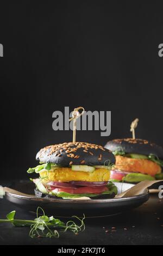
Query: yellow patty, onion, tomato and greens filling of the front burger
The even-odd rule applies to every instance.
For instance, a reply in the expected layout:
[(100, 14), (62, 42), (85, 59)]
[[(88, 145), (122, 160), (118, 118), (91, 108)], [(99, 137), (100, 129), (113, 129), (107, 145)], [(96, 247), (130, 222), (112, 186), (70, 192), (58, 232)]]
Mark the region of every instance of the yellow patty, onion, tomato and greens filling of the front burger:
[[(55, 164), (41, 164), (29, 168), (28, 173), (40, 174), (34, 183), (43, 194), (62, 198), (96, 197), (101, 194), (117, 194), (117, 187), (108, 183), (110, 169), (91, 166), (60, 167)], [(46, 169), (48, 168), (48, 169)]]

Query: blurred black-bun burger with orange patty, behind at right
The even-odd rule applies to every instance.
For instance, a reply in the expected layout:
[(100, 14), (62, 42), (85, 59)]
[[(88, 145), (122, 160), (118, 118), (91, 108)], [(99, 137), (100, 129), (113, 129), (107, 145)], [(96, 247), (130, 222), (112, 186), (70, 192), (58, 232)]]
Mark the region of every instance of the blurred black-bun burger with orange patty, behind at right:
[(116, 157), (110, 180), (140, 182), (162, 179), (163, 148), (145, 139), (114, 139), (105, 145)]

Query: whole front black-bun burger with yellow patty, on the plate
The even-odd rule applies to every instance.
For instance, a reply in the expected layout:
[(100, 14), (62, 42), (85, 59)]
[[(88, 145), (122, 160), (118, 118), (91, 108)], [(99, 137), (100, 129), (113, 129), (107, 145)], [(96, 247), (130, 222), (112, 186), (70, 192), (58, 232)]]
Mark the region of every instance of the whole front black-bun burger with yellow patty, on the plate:
[(108, 182), (115, 156), (100, 145), (85, 142), (50, 145), (37, 153), (36, 160), (40, 164), (27, 171), (40, 175), (33, 179), (36, 195), (71, 199), (112, 198), (117, 194), (117, 187)]

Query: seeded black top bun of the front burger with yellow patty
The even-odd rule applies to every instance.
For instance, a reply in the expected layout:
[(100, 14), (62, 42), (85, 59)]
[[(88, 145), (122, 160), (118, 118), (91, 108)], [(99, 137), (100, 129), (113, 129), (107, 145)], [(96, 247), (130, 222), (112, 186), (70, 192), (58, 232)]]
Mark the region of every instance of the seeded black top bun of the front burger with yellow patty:
[(115, 156), (110, 150), (99, 145), (86, 142), (65, 142), (41, 149), (36, 155), (36, 160), (43, 163), (56, 163), (63, 167), (71, 164), (101, 166), (105, 161), (115, 163)]

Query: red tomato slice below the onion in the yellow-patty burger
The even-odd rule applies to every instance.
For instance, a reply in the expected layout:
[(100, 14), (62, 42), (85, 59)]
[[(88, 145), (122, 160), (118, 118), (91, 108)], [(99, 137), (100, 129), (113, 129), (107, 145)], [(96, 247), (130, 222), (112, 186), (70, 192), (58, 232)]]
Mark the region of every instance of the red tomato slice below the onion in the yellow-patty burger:
[(79, 187), (79, 188), (69, 188), (69, 187), (61, 187), (61, 188), (54, 188), (53, 192), (67, 192), (70, 194), (85, 194), (85, 193), (94, 193), (94, 194), (100, 194), (104, 191), (108, 191), (108, 188), (106, 186), (103, 187)]

